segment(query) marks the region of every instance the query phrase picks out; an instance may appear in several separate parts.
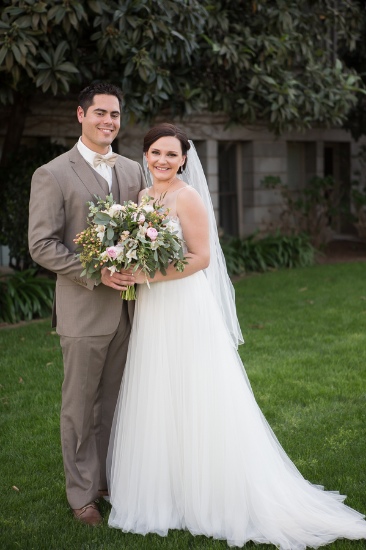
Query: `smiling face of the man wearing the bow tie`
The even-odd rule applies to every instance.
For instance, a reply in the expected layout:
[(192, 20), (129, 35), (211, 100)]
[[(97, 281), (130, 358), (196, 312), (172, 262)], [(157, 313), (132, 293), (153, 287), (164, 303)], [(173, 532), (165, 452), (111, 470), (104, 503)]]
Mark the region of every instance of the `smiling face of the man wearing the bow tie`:
[(121, 124), (116, 96), (95, 95), (93, 104), (86, 112), (82, 107), (78, 107), (77, 116), (82, 127), (81, 140), (84, 145), (96, 153), (106, 154)]

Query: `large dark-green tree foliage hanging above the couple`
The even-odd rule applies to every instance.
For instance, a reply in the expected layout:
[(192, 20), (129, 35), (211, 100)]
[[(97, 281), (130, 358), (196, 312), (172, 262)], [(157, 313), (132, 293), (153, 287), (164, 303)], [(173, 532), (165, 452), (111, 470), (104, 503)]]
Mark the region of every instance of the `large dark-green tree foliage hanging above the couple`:
[(275, 132), (339, 125), (363, 87), (347, 55), (365, 17), (359, 0), (4, 0), (0, 101), (13, 107), (2, 162), (38, 90), (95, 79), (122, 87), (127, 122), (205, 110)]

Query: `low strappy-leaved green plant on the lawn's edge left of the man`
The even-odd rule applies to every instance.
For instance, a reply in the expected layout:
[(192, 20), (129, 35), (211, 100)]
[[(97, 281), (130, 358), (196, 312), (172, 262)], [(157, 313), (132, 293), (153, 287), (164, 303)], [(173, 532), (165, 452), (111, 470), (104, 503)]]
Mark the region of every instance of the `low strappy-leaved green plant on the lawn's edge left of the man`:
[(55, 281), (35, 269), (0, 275), (0, 322), (18, 323), (51, 313)]

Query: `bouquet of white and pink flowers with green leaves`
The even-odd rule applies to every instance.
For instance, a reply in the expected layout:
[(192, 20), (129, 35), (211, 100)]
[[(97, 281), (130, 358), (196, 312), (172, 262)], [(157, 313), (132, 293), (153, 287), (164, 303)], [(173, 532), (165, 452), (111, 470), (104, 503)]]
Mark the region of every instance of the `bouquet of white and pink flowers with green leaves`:
[[(95, 196), (90, 201), (88, 227), (78, 233), (74, 242), (78, 245), (79, 258), (86, 276), (101, 282), (101, 270), (108, 267), (111, 273), (126, 269), (142, 270), (147, 277), (156, 271), (166, 274), (173, 262), (177, 271), (183, 271), (187, 261), (183, 254), (183, 241), (168, 217), (169, 210), (159, 200), (144, 195), (139, 205), (127, 201), (116, 204), (113, 195), (105, 200)], [(125, 300), (136, 298), (132, 285), (121, 292)]]

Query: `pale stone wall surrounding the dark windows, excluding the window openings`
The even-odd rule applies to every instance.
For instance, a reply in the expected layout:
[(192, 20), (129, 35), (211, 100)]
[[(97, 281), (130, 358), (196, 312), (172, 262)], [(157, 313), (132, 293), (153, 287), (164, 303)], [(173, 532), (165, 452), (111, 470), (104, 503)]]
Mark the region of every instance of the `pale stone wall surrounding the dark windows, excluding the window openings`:
[[(76, 98), (52, 99), (38, 97), (29, 105), (24, 141), (35, 143), (39, 138), (49, 137), (53, 141), (72, 146), (78, 139), (80, 127), (76, 119)], [(123, 116), (122, 116), (123, 122)], [(299, 187), (303, 185), (304, 174), (323, 175), (325, 144), (349, 144), (350, 179), (357, 170), (364, 170), (357, 158), (360, 145), (352, 141), (348, 132), (342, 129), (312, 129), (306, 132), (290, 132), (275, 137), (264, 127), (227, 127), (221, 115), (193, 115), (177, 121), (193, 141), (197, 141), (204, 166), (213, 204), (219, 220), (220, 182), (218, 148), (222, 142), (236, 144), (238, 233), (242, 236), (256, 230), (265, 231), (269, 224), (275, 224), (281, 211), (281, 197), (274, 190), (265, 189), (262, 180), (265, 176), (279, 176), (288, 183), (289, 147), (288, 143), (313, 144), (304, 151), (310, 151), (304, 158), (304, 166), (299, 165)], [(129, 126), (120, 131), (118, 152), (141, 162), (142, 140), (146, 127)], [(4, 126), (0, 127), (0, 140)], [(306, 157), (307, 153), (305, 154)], [(310, 158), (311, 157), (311, 158)], [(310, 160), (309, 160), (310, 159)], [(294, 167), (292, 167), (292, 170)], [(295, 165), (296, 171), (296, 165)], [(364, 176), (363, 176), (364, 177)]]

